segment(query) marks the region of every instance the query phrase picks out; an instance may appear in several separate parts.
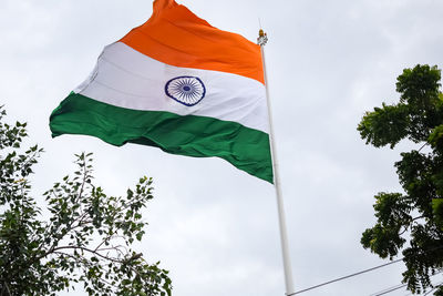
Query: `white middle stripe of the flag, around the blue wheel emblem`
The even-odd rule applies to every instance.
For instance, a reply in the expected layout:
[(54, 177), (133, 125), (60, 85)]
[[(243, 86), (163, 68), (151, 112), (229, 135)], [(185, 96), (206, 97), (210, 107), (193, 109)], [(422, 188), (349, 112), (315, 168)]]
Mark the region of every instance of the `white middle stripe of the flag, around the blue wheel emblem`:
[[(165, 93), (167, 81), (184, 75), (198, 76), (205, 84), (205, 98), (196, 105), (186, 106)], [(266, 133), (269, 130), (266, 90), (260, 82), (237, 74), (165, 64), (122, 42), (104, 48), (93, 73), (74, 92), (126, 109), (210, 116)]]

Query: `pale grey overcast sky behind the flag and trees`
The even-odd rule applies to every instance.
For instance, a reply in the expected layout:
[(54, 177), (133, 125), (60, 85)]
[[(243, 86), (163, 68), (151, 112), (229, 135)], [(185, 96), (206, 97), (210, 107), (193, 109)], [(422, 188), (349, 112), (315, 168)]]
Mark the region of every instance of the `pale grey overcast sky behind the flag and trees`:
[[(360, 237), (374, 222), (373, 195), (400, 190), (393, 162), (410, 145), (367, 146), (356, 126), (364, 111), (398, 100), (395, 79), (404, 68), (443, 67), (443, 1), (177, 2), (251, 41), (258, 19), (268, 33), (296, 289), (385, 263), (364, 251)], [(0, 1), (0, 101), (8, 120), (27, 121), (31, 142), (45, 149), (34, 192), (41, 196), (72, 172), (74, 153), (94, 152), (96, 183), (109, 194), (154, 177), (155, 198), (144, 213), (150, 226), (137, 248), (171, 271), (173, 295), (284, 295), (270, 184), (219, 159), (114, 147), (80, 135), (51, 139), (51, 111), (86, 78), (104, 45), (151, 12), (151, 0)], [(371, 295), (400, 284), (403, 269), (395, 264), (301, 295)]]

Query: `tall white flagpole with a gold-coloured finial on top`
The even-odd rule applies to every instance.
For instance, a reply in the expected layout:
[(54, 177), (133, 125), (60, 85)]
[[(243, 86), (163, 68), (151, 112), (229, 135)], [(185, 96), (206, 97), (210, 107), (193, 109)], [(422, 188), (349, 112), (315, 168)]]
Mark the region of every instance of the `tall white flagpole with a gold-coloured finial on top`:
[(285, 208), (280, 188), (280, 176), (278, 172), (277, 151), (274, 140), (272, 112), (269, 99), (268, 76), (266, 73), (265, 45), (267, 42), (268, 42), (268, 37), (266, 35), (264, 30), (260, 29), (257, 38), (257, 44), (260, 45), (261, 49), (261, 60), (265, 73), (265, 89), (266, 89), (266, 99), (268, 103), (268, 118), (269, 118), (269, 141), (270, 141), (271, 156), (272, 156), (274, 186), (276, 188), (276, 196), (277, 196), (278, 224), (280, 228), (280, 242), (281, 242), (281, 254), (284, 259), (286, 295), (290, 295), (295, 293), (295, 289), (293, 289), (292, 269), (289, 256), (288, 235), (286, 229)]

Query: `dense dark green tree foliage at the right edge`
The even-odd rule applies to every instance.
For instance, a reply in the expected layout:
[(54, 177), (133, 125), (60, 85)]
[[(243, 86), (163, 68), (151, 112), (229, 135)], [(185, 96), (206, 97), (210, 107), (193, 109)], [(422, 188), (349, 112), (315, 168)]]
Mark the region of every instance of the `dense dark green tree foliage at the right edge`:
[[(367, 144), (393, 149), (401, 140), (418, 150), (394, 165), (404, 192), (375, 195), (377, 223), (362, 234), (364, 248), (392, 259), (401, 252), (403, 283), (412, 293), (443, 295), (432, 276), (443, 269), (443, 95), (437, 67), (416, 65), (398, 78), (400, 102), (367, 112), (358, 131)], [(435, 280), (433, 280), (435, 283)], [(440, 283), (442, 284), (442, 283)]]

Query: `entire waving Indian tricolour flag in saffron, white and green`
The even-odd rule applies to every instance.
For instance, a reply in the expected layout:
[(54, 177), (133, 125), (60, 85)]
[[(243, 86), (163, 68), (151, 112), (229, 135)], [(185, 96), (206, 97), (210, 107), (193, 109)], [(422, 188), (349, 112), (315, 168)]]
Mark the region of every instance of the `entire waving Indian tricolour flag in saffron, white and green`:
[(222, 157), (272, 183), (259, 45), (174, 0), (104, 48), (91, 75), (52, 112), (52, 136)]

